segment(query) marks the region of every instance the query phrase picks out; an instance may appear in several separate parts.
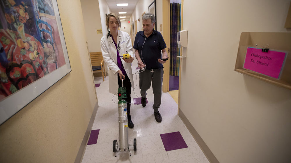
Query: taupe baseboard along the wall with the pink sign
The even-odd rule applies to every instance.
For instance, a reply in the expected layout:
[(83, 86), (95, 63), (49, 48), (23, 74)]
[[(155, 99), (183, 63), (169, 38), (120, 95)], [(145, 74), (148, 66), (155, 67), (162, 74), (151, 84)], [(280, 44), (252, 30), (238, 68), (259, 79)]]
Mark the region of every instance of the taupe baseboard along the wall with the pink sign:
[(197, 133), (195, 128), (192, 126), (192, 124), (189, 122), (189, 120), (186, 118), (184, 113), (181, 109), (179, 109), (179, 117), (182, 119), (188, 130), (190, 131), (191, 135), (194, 137), (195, 141), (203, 151), (204, 155), (208, 159), (210, 163), (219, 163), (217, 158), (214, 156), (214, 154), (210, 151), (206, 143), (203, 141), (203, 139), (200, 137), (200, 135)]

